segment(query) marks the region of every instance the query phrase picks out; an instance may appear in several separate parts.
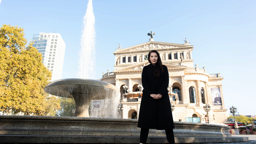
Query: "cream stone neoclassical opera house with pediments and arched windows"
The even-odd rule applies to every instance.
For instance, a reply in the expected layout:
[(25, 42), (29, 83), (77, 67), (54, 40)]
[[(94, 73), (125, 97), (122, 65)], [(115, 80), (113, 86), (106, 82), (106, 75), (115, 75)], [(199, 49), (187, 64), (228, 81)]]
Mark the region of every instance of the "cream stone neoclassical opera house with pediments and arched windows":
[[(206, 73), (205, 67), (203, 69), (197, 65), (194, 67), (193, 47), (187, 40), (185, 44), (173, 44), (156, 42), (153, 38), (149, 42), (124, 49), (119, 45), (113, 52), (115, 70), (103, 73), (100, 81), (108, 82), (120, 89), (123, 104), (121, 118), (137, 119), (140, 116), (140, 101), (143, 93), (139, 92), (138, 85), (142, 85), (143, 67), (149, 64), (148, 52), (156, 50), (163, 65), (167, 66), (169, 71), (168, 90), (176, 94), (169, 96), (171, 104), (175, 106), (172, 112), (174, 121), (181, 119), (182, 122), (207, 123), (209, 120), (211, 124), (227, 121), (227, 109), (221, 87), (224, 77), (220, 74)], [(127, 85), (128, 90), (124, 90), (124, 85)], [(205, 104), (211, 106), (208, 116), (203, 108)]]

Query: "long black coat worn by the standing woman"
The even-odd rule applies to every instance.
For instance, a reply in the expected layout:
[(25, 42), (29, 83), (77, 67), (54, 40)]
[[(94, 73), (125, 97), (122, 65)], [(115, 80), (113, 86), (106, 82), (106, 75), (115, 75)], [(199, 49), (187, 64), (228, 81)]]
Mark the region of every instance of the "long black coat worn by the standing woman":
[[(154, 81), (152, 64), (142, 70), (141, 82), (143, 96), (140, 103), (138, 127), (157, 130), (174, 129), (170, 99), (168, 96), (169, 73), (166, 66)], [(150, 94), (161, 94), (162, 98), (155, 100)]]

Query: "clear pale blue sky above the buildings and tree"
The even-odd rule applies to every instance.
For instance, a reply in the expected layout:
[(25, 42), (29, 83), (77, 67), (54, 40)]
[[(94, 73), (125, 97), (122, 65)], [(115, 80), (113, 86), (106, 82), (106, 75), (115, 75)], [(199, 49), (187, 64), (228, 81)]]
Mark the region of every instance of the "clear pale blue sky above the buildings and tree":
[[(0, 24), (25, 29), (28, 41), (39, 32), (60, 33), (66, 43), (62, 78), (76, 78), (83, 17), (88, 0), (2, 0)], [(114, 70), (114, 52), (155, 41), (194, 45), (194, 65), (220, 73), (226, 108), (255, 112), (256, 1), (93, 0), (96, 32), (95, 79)], [(228, 110), (229, 113), (229, 110)]]

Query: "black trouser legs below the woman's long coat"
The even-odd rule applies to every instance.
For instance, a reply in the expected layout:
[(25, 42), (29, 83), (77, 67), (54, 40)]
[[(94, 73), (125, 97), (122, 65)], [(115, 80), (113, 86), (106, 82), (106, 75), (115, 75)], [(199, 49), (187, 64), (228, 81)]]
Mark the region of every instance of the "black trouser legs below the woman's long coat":
[[(148, 131), (149, 129), (141, 128), (140, 130), (140, 143), (146, 144), (148, 139)], [(175, 144), (173, 130), (165, 130), (167, 140), (170, 144)]]

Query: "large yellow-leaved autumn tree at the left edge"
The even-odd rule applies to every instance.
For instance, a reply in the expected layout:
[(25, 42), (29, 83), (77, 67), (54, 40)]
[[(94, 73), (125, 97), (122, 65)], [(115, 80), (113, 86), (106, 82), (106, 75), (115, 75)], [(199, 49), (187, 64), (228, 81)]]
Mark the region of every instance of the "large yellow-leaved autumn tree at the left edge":
[(32, 43), (25, 46), (23, 31), (10, 25), (0, 29), (0, 111), (54, 116), (59, 100), (43, 90), (52, 74)]

